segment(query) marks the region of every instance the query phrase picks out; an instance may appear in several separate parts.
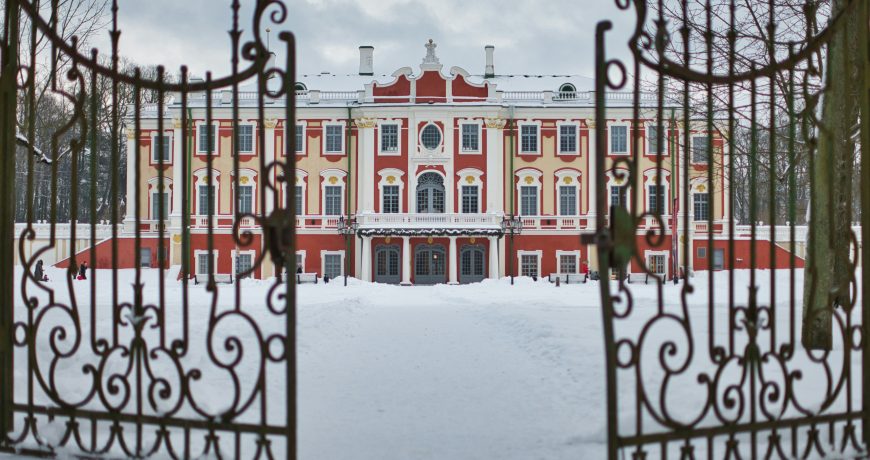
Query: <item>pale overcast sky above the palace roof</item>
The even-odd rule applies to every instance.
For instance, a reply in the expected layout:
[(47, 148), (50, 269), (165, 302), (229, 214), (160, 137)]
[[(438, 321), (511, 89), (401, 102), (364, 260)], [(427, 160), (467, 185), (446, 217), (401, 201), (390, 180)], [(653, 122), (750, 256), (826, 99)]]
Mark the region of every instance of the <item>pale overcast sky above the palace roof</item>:
[[(375, 47), (375, 73), (417, 70), (429, 38), (446, 72), (458, 65), (482, 73), (484, 46), (495, 46), (496, 73), (594, 76), (595, 25), (610, 19), (615, 29), (609, 54), (624, 58), (634, 14), (614, 0), (285, 0), (289, 17), (272, 29), (298, 41), (300, 73), (356, 73), (360, 45)], [(170, 71), (187, 64), (194, 74), (229, 71), (230, 0), (119, 0), (121, 54)], [(252, 29), (254, 0), (242, 0), (241, 27)], [(95, 40), (108, 49), (107, 34)], [(250, 37), (250, 35), (247, 35)]]

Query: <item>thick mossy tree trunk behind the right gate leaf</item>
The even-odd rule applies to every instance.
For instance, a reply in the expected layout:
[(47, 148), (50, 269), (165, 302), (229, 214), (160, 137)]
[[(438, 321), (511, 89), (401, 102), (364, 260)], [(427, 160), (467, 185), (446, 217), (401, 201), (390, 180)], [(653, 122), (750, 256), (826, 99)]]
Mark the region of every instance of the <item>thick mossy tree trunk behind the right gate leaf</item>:
[[(847, 0), (834, 0), (832, 21)], [(858, 123), (858, 15), (846, 12), (828, 46), (825, 92), (818, 152), (813, 158), (807, 269), (801, 342), (811, 349), (831, 349), (832, 318), (837, 305), (849, 305), (851, 265), (852, 176)]]

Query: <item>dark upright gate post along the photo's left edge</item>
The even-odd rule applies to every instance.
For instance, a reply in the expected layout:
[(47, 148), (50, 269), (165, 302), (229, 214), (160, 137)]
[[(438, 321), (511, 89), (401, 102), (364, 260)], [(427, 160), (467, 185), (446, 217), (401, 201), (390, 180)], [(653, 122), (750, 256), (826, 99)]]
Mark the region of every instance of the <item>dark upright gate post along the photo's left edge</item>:
[(12, 429), (12, 306), (15, 268), (15, 129), (18, 0), (6, 2), (0, 68), (0, 445)]

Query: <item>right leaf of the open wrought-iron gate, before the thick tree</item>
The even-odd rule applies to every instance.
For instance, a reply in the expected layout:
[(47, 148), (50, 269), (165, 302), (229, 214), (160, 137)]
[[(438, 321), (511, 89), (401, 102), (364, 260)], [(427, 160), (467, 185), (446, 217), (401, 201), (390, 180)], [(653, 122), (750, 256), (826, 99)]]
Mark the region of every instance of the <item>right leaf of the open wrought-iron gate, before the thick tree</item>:
[[(600, 284), (609, 457), (866, 456), (870, 341), (865, 325), (870, 302), (860, 294), (870, 286), (870, 276), (866, 270), (859, 274), (857, 266), (870, 261), (868, 2), (616, 4), (625, 14), (636, 15), (636, 23), (628, 62), (606, 52), (612, 24), (603, 22), (597, 28), (599, 141), (593, 164), (598, 209), (608, 209), (614, 190), (621, 196), (635, 191), (629, 193), (628, 206), (610, 203), (609, 211), (597, 216), (597, 231), (589, 238), (598, 247), (602, 279), (618, 278)], [(819, 8), (825, 5), (831, 18), (818, 24), (816, 18), (825, 13)], [(789, 24), (777, 18), (788, 13), (805, 25), (793, 43), (783, 43), (777, 35), (778, 27)], [(747, 18), (761, 31), (756, 45), (766, 62), (740, 68), (736, 57), (751, 45)], [(859, 37), (857, 61), (863, 73), (830, 78), (830, 61), (843, 56), (834, 57), (831, 47), (840, 46), (843, 53), (849, 34)], [(857, 178), (856, 169), (853, 190), (855, 199), (861, 190), (858, 212), (863, 225), (849, 229), (846, 214), (854, 211), (840, 213), (836, 208), (828, 213), (830, 222), (824, 222), (831, 229), (827, 239), (816, 236), (819, 242), (814, 244), (813, 225), (819, 224), (814, 219), (836, 206), (834, 198), (820, 199), (824, 192), (836, 196), (835, 186), (813, 175), (818, 166), (814, 162), (826, 161), (820, 154), (826, 132), (837, 132), (819, 108), (826, 98), (836, 97), (838, 82), (846, 80), (856, 89), (848, 97), (860, 104), (863, 123), (847, 126), (849, 134), (831, 142), (846, 142), (854, 135), (851, 142), (860, 144), (861, 175)], [(625, 121), (634, 130), (634, 142), (630, 155), (614, 158), (603, 141), (613, 118), (605, 97), (606, 91), (620, 89), (633, 92), (633, 117)], [(642, 130), (657, 133), (654, 141), (645, 138), (657, 151), (642, 151)], [(860, 142), (855, 134), (859, 130)], [(702, 134), (697, 145), (696, 134)], [(746, 140), (742, 156), (741, 139)], [(645, 171), (645, 165), (650, 169)], [(800, 168), (810, 171), (809, 183), (800, 181)], [(673, 172), (669, 177), (668, 171)], [(645, 177), (645, 172), (651, 174)], [(741, 174), (745, 185), (738, 190)], [(699, 183), (703, 190), (695, 188)], [(639, 199), (661, 186), (674, 190), (668, 205)], [(821, 284), (803, 291), (801, 279), (817, 283), (824, 269), (811, 265), (805, 274), (799, 270), (803, 259), (795, 255), (794, 241), (796, 222), (803, 218), (797, 209), (802, 189), (809, 190), (812, 211), (807, 262), (824, 256), (819, 245), (833, 248), (845, 242), (848, 248), (846, 270), (835, 275), (839, 279), (830, 291)], [(695, 199), (695, 194), (701, 197)], [(741, 209), (736, 201), (743, 198)], [(714, 216), (716, 207), (721, 212)], [(736, 214), (744, 212), (746, 225), (738, 225)], [(660, 249), (671, 251), (670, 260), (654, 254)], [(758, 270), (762, 258), (780, 269)], [(721, 262), (724, 270), (696, 275), (692, 264), (705, 260)], [(637, 277), (632, 275), (638, 273), (655, 286), (633, 286)], [(833, 333), (820, 349), (803, 346), (811, 338), (800, 328), (802, 298), (811, 302), (814, 296), (825, 296), (825, 313), (820, 315), (828, 315), (827, 329)]]

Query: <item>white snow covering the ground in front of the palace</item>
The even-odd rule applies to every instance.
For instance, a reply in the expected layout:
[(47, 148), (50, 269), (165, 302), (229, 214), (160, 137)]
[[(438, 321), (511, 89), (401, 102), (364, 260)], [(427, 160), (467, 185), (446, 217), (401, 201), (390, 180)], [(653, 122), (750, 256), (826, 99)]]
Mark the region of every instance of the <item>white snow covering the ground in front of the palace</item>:
[[(68, 303), (68, 281), (63, 271), (49, 268), (47, 272), (52, 280), (47, 286), (55, 290), (55, 300)], [(108, 337), (111, 321), (104, 313), (108, 311), (106, 306), (111, 299), (111, 272), (98, 270), (96, 273), (97, 330), (101, 337)], [(156, 270), (142, 273), (146, 303), (158, 299), (157, 273)], [(759, 271), (758, 275), (757, 282), (761, 285), (759, 302), (767, 305), (770, 293), (765, 285), (770, 280), (770, 272)], [(796, 275), (796, 328), (799, 332), (803, 274), (797, 271)], [(20, 271), (18, 276), (21, 276)], [(723, 327), (727, 321), (727, 276), (727, 272), (722, 272), (714, 277), (714, 341), (718, 346), (727, 346), (728, 341), (727, 330)], [(779, 328), (776, 342), (781, 344), (788, 339), (787, 293), (790, 285), (787, 271), (780, 271), (776, 276), (775, 321)], [(119, 278), (123, 289), (121, 298), (129, 300), (132, 292), (129, 286), (135, 280), (135, 273), (121, 270)], [(174, 276), (165, 278), (170, 339), (181, 333), (181, 287), (174, 279)], [(736, 272), (735, 304), (738, 306), (746, 303), (748, 281), (747, 271)], [(695, 329), (695, 353), (690, 372), (673, 379), (667, 396), (668, 407), (680, 420), (700, 416), (699, 403), (705, 401), (707, 395), (699, 385), (697, 375), (713, 369), (707, 352), (707, 275), (700, 273), (692, 282), (696, 290), (688, 295), (687, 300)], [(90, 334), (90, 282), (69, 283), (76, 292), (82, 338), (85, 339)], [(464, 286), (400, 287), (355, 279), (350, 279), (348, 284), (344, 287), (342, 280), (337, 279), (329, 284), (298, 288), (300, 458), (605, 457), (606, 378), (598, 283), (555, 287), (545, 280), (535, 282), (529, 278), (517, 278), (514, 286), (508, 279)], [(41, 305), (44, 305), (47, 300), (45, 293), (37, 292), (30, 282), (28, 285), (28, 297), (40, 298)], [(20, 283), (16, 282), (16, 288), (19, 286)], [(272, 282), (243, 280), (240, 286), (242, 310), (256, 321), (263, 337), (282, 333), (283, 316), (270, 312), (263, 302), (269, 295)], [(615, 290), (616, 284), (612, 283), (612, 286)], [(679, 299), (682, 287), (663, 286), (663, 312), (681, 314)], [(618, 337), (636, 338), (640, 327), (657, 311), (656, 286), (632, 284), (630, 289), (634, 309), (626, 319), (615, 322)], [(242, 394), (253, 391), (253, 377), (257, 375), (261, 357), (255, 346), (257, 340), (253, 325), (232, 314), (234, 290), (235, 286), (219, 286), (216, 311), (225, 316), (221, 317), (214, 336), (210, 337), (205, 319), (210, 312), (211, 293), (202, 285), (189, 287), (191, 349), (183, 366), (188, 370), (192, 367), (202, 369), (202, 377), (191, 383), (193, 393), (197, 395), (196, 402), (201, 410), (215, 416), (233, 407), (233, 400), (227, 396), (235, 394), (236, 390), (232, 376), (214, 365), (205, 344), (210, 341), (215, 346), (215, 359), (221, 363), (240, 359), (238, 391)], [(271, 295), (277, 301), (278, 293)], [(20, 295), (17, 295), (16, 302), (16, 320), (23, 321), (26, 309)], [(625, 311), (625, 307), (619, 306), (618, 311)], [(68, 316), (57, 313), (46, 314), (44, 321), (71, 324)], [(125, 310), (124, 313), (131, 312)], [(151, 344), (159, 341), (156, 330), (150, 329), (155, 315), (154, 311), (145, 314), (148, 320), (143, 334), (146, 342)], [(130, 329), (127, 326), (122, 330), (121, 336), (126, 340), (131, 337)], [(674, 320), (660, 320), (650, 331), (648, 340), (655, 343), (642, 348), (642, 362), (650, 365), (645, 366), (640, 375), (650, 394), (655, 396), (652, 398), (655, 405), (664, 376), (658, 366), (659, 345), (665, 340), (674, 340), (682, 346), (685, 341), (681, 340), (681, 326)], [(37, 343), (47, 344), (44, 334), (48, 332), (45, 324), (40, 326)], [(239, 342), (225, 347), (228, 335), (238, 337)], [(58, 341), (59, 348), (73, 350), (71, 339)], [(759, 343), (765, 344), (769, 340), (766, 333), (759, 335)], [(745, 346), (745, 341), (740, 339), (736, 343), (738, 347)], [(237, 347), (244, 353), (239, 355)], [(766, 349), (765, 345), (762, 349)], [(19, 348), (18, 351), (23, 350)], [(624, 352), (621, 349), (620, 356)], [(280, 346), (270, 342), (266, 353), (280, 356)], [(53, 357), (45, 346), (40, 347), (37, 354), (41, 363), (49, 363)], [(72, 358), (59, 361), (59, 377), (63, 378), (59, 387), (64, 398), (79, 400), (87, 394), (90, 377), (82, 372), (82, 364), (98, 362), (88, 355), (74, 353)], [(679, 348), (679, 352), (668, 357), (667, 362), (677, 366), (686, 356), (685, 348)], [(840, 340), (835, 343), (835, 350), (828, 360), (832, 363), (834, 377), (842, 371), (842, 356)], [(857, 353), (852, 354), (853, 367), (860, 369), (860, 360), (856, 356)], [(168, 357), (161, 359), (162, 362), (160, 359), (155, 361), (155, 369), (163, 369), (158, 372), (163, 372), (161, 376), (168, 379), (170, 387), (177, 389), (177, 379), (173, 380), (172, 373), (168, 372), (171, 369)], [(16, 360), (23, 363), (24, 355), (19, 353)], [(107, 366), (123, 372), (126, 362), (122, 356), (113, 355), (107, 360)], [(41, 368), (47, 372), (47, 365)], [(805, 372), (795, 387), (801, 394), (809, 395), (802, 396), (804, 399), (801, 401), (817, 409), (828, 383), (821, 367), (811, 363), (806, 353), (799, 349), (794, 363), (789, 363), (789, 369), (793, 368), (819, 370)], [(723, 381), (739, 378), (732, 375), (735, 370), (729, 368), (724, 372)], [(276, 424), (284, 419), (283, 372), (281, 363), (267, 365), (268, 419)], [(619, 419), (623, 434), (630, 434), (635, 423), (633, 372), (619, 372)], [(768, 372), (772, 380), (779, 378), (776, 369)], [(26, 368), (16, 367), (19, 387), (24, 387), (26, 375)], [(857, 398), (855, 401), (858, 401), (856, 404), (860, 404), (860, 385), (854, 386), (859, 387), (852, 390)], [(16, 388), (16, 399), (25, 398), (26, 393)], [(171, 400), (170, 397), (167, 401)], [(164, 404), (153, 413), (170, 410), (171, 404), (167, 401), (163, 401)], [(251, 412), (258, 413), (259, 406), (255, 403), (252, 407)], [(190, 408), (183, 408), (180, 414), (194, 415)], [(240, 419), (246, 422), (256, 420), (256, 414), (253, 418), (243, 416)], [(44, 419), (43, 423), (46, 423)], [(710, 414), (702, 417), (702, 424), (712, 423), (715, 420)], [(655, 425), (645, 417), (644, 426), (650, 429)], [(55, 423), (49, 428), (51, 433), (43, 434), (43, 437), (54, 439), (59, 435), (57, 430)], [(826, 432), (824, 435), (827, 436)], [(222, 440), (226, 441), (226, 438)], [(785, 434), (784, 438), (788, 439)], [(201, 441), (193, 442), (198, 442), (197, 446), (201, 448)], [(273, 448), (278, 456), (282, 456), (280, 438), (273, 438)]]

